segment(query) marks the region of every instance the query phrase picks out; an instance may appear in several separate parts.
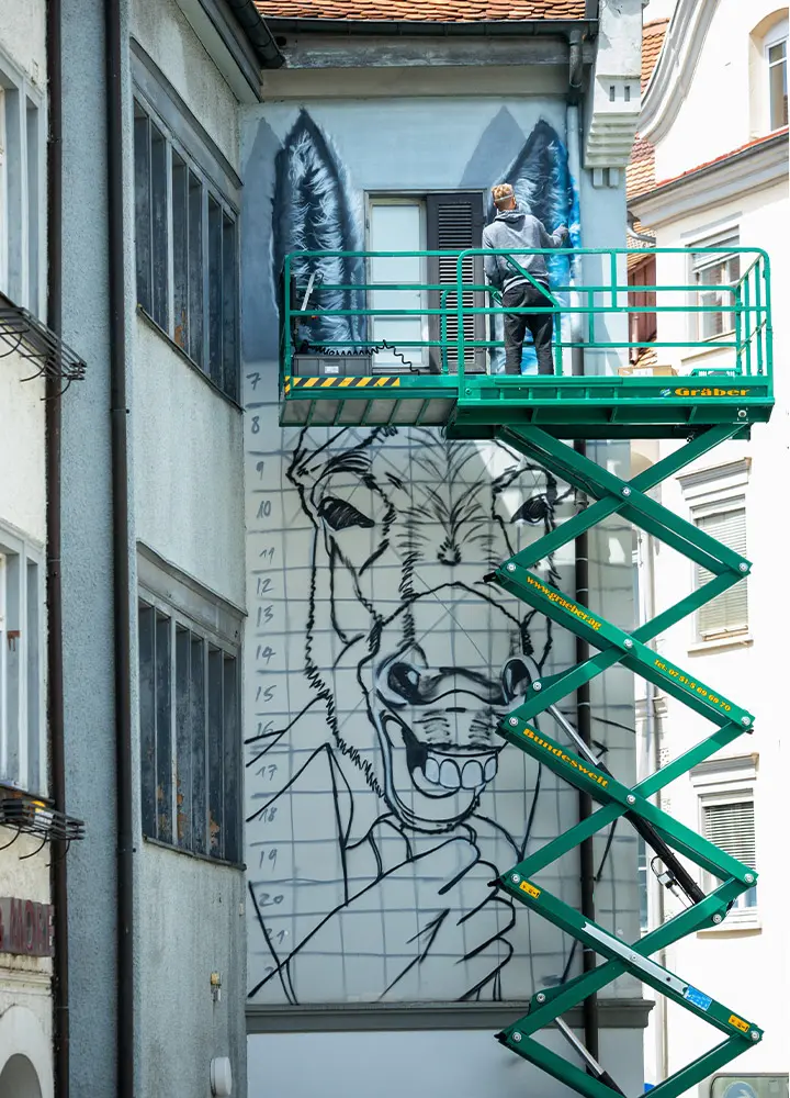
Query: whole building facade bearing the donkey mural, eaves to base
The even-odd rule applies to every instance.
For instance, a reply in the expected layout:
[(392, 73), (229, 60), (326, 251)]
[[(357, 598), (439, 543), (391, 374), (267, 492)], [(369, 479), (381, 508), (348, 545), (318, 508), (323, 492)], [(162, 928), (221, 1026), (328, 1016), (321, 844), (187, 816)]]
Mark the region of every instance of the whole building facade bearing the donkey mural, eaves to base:
[[(493, 735), (496, 705), (537, 669), (567, 665), (573, 645), (481, 578), (574, 500), (507, 448), (437, 427), (281, 428), (278, 302), (285, 257), (304, 250), (411, 253), (373, 258), (371, 278), (430, 280), (418, 254), (479, 246), (503, 179), (548, 227), (569, 225), (575, 246), (624, 246), (641, 4), (618, 7), (590, 22), (590, 5), (492, 4), (463, 23), (445, 5), (343, 18), (328, 3), (259, 4), (286, 65), (264, 74), (241, 138), (251, 1094), (562, 1090), (514, 1068), (492, 1033), (579, 955), (486, 883), (577, 819), (576, 794)], [(353, 255), (294, 262), (303, 288), (345, 284), (332, 307), (346, 315), (317, 315), (309, 338), (353, 344), (366, 300)], [(419, 291), (398, 301), (430, 306)], [(625, 338), (622, 316), (611, 323)], [(374, 330), (374, 371), (431, 368), (429, 349), (405, 349), (430, 322)], [(621, 362), (585, 357), (590, 372)], [(601, 446), (600, 459), (625, 472), (628, 448)], [(590, 542), (590, 597), (628, 623), (629, 539), (616, 526)], [(546, 567), (573, 590), (573, 553)], [(595, 736), (630, 774), (629, 677), (594, 686)], [(552, 883), (578, 905), (576, 861)], [(635, 847), (618, 831), (597, 910), (625, 940), (634, 883)], [(601, 1057), (631, 1087), (636, 988), (623, 981), (600, 1001)]]

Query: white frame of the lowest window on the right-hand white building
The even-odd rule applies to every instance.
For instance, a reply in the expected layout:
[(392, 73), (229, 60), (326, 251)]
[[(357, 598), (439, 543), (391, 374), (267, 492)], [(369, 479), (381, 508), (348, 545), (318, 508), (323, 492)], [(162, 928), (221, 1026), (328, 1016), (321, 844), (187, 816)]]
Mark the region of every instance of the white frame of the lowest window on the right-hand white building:
[[(697, 798), (697, 825), (704, 834), (704, 809), (710, 805), (753, 804), (755, 806), (755, 850), (759, 847), (757, 819), (757, 766), (754, 755), (711, 760), (695, 768), (690, 774)], [(759, 861), (759, 859), (757, 859)], [(759, 866), (757, 866), (757, 870)], [(718, 877), (701, 871), (701, 885), (706, 893), (720, 883)], [(755, 898), (756, 903), (751, 904)], [(742, 893), (730, 908), (726, 919), (702, 933), (726, 930), (757, 930), (760, 928), (759, 894), (756, 889)]]

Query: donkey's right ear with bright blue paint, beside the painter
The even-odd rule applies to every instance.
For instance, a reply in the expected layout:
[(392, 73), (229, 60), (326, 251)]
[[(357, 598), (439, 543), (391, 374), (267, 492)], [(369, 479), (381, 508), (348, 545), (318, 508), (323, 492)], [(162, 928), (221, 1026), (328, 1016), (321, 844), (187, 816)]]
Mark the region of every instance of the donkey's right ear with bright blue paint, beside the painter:
[(512, 183), (519, 205), (542, 221), (550, 233), (567, 225), (567, 149), (543, 119), (527, 138), (505, 179)]

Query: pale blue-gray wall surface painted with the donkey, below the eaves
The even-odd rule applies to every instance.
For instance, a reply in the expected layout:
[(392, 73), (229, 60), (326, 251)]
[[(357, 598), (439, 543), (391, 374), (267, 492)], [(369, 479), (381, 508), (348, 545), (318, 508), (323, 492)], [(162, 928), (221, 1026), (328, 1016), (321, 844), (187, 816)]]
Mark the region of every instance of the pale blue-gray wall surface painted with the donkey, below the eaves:
[[(537, 145), (546, 127), (553, 137)], [(442, 673), (450, 665), (459, 683), (471, 674), (498, 681), (508, 657), (532, 675), (531, 660), (546, 672), (572, 661), (567, 635), (546, 630), (539, 617), (528, 623), (523, 605), (479, 586), (488, 561), (562, 522), (571, 500), (564, 485), (498, 444), (448, 442), (435, 429), (404, 427), (280, 429), (274, 277), (290, 248), (363, 248), (365, 195), (483, 194), (503, 177), (518, 186), (544, 181), (541, 216), (550, 227), (571, 222), (576, 239), (580, 227), (589, 233), (585, 244), (612, 246), (624, 235), (623, 195), (585, 183), (579, 226), (567, 187), (557, 183), (565, 144), (564, 103), (548, 97), (305, 99), (246, 113), (251, 1095), (301, 1094), (306, 1086), (330, 1098), (371, 1085), (384, 1095), (387, 1088), (471, 1095), (486, 1072), (486, 1091), (531, 1084), (553, 1093), (528, 1066), (499, 1055), (488, 1034), (462, 1029), (462, 1019), (454, 1032), (387, 1033), (386, 1009), (476, 998), (476, 986), (484, 1001), (518, 998), (558, 978), (567, 940), (523, 909), (492, 904), (485, 881), (492, 866), (514, 864), (521, 843), (537, 849), (569, 827), (576, 794), (545, 773), (539, 789), (529, 760), (499, 753), (493, 710), (474, 699), (474, 688), (465, 692), (466, 703), (454, 702), (464, 691), (448, 685), (450, 702), (409, 704), (400, 724), (381, 691), (398, 659)], [(336, 281), (334, 273), (325, 272), (328, 281)], [(320, 338), (332, 338), (329, 326), (321, 332)], [(616, 367), (611, 358), (602, 369)], [(601, 448), (601, 458), (628, 473), (627, 448)], [(540, 495), (549, 501), (542, 517), (531, 525), (514, 520)], [(451, 531), (453, 508), (459, 517)], [(627, 624), (629, 539), (614, 526), (592, 539), (591, 552), (592, 598)], [(546, 574), (573, 590), (572, 550), (558, 552)], [(597, 717), (628, 726), (627, 677), (608, 676), (596, 690)], [(465, 716), (450, 719), (456, 704)], [(606, 726), (596, 727), (596, 736), (609, 744), (613, 769), (632, 776), (633, 737), (610, 736)], [(440, 788), (440, 761), (447, 788)], [(477, 788), (461, 787), (461, 778), (451, 788), (449, 775), (460, 770), (449, 768), (456, 762), (479, 766)], [(545, 877), (578, 904), (576, 874), (569, 858)], [(634, 885), (634, 845), (623, 834), (599, 898), (601, 921), (628, 940), (637, 935)], [(441, 933), (432, 935), (437, 917)], [(424, 945), (416, 942), (428, 943), (419, 964)], [(635, 990), (623, 981), (608, 994)], [(360, 1004), (379, 1032), (323, 1032), (320, 1009), (331, 1006), (342, 1018), (345, 1008)], [(267, 1019), (278, 1010), (278, 1031), (287, 1028), (289, 1005), (300, 1008), (294, 1024), (309, 1032), (267, 1035)], [(637, 1031), (609, 1038), (612, 1069), (620, 1065), (627, 1084), (629, 1077), (641, 1083)], [(316, 1050), (320, 1073), (294, 1069), (314, 1062)], [(436, 1069), (429, 1050), (436, 1050)], [(369, 1057), (379, 1065), (375, 1084)]]

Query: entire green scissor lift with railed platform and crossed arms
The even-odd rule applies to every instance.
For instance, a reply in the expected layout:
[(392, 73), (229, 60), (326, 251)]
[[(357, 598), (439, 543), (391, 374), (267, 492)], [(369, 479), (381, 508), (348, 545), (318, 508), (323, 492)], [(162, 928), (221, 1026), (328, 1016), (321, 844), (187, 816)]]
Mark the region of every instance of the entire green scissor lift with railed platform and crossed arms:
[[(684, 249), (655, 250), (658, 256), (685, 255)], [(714, 253), (718, 249), (709, 250)], [(731, 250), (727, 249), (727, 254)], [(752, 425), (766, 423), (770, 417), (774, 394), (768, 257), (759, 249), (735, 250), (742, 253), (741, 264), (745, 272), (732, 285), (716, 288), (720, 294), (729, 294), (723, 303), (721, 299), (711, 302), (698, 292), (697, 287), (686, 284), (640, 285), (629, 293), (621, 276), (627, 255), (623, 249), (560, 253), (572, 255), (574, 264), (591, 271), (592, 277), (583, 284), (553, 288), (551, 303), (545, 309), (566, 316), (564, 326), (557, 323), (558, 315), (555, 316), (555, 333), (569, 328), (574, 335), (556, 339), (554, 376), (521, 378), (465, 369), (465, 361), (471, 355), (479, 360), (481, 349), (485, 351), (496, 345), (493, 338), (481, 337), (481, 322), (474, 321), (474, 317), (487, 318), (501, 312), (497, 294), (482, 287), (478, 278), (474, 277), (474, 270), (478, 270), (475, 267), (477, 257), (483, 255), (479, 249), (456, 255), (456, 279), (449, 285), (386, 284), (388, 291), (422, 292), (424, 300), (429, 302), (437, 302), (438, 295), (438, 304), (419, 310), (323, 309), (323, 292), (330, 291), (336, 305), (341, 300), (339, 293), (368, 294), (381, 290), (382, 285), (368, 282), (364, 278), (350, 287), (316, 288), (311, 284), (306, 293), (304, 287), (296, 287), (300, 295), (296, 298), (293, 293), (292, 262), (298, 264), (303, 270), (306, 259), (318, 261), (330, 254), (300, 254), (298, 257), (289, 256), (285, 261), (282, 424), (432, 425), (444, 427), (450, 437), (496, 438), (595, 501), (528, 549), (501, 563), (486, 578), (569, 629), (595, 650), (595, 654), (575, 666), (533, 682), (522, 704), (503, 720), (498, 731), (514, 747), (549, 766), (577, 789), (588, 793), (599, 807), (495, 882), (519, 904), (531, 908), (603, 959), (591, 971), (534, 994), (528, 1013), (497, 1034), (498, 1040), (519, 1056), (589, 1098), (611, 1098), (612, 1090), (619, 1093), (619, 1087), (574, 1037), (562, 1016), (623, 973), (632, 974), (658, 994), (708, 1021), (722, 1035), (721, 1042), (710, 1052), (656, 1086), (653, 1089), (655, 1098), (676, 1098), (688, 1091), (763, 1037), (761, 1030), (737, 1010), (716, 1001), (703, 989), (693, 987), (681, 976), (651, 960), (653, 954), (687, 934), (721, 923), (733, 901), (752, 888), (757, 879), (751, 866), (731, 858), (673, 819), (652, 800), (664, 786), (737, 737), (752, 732), (754, 726), (754, 717), (747, 709), (714, 685), (703, 683), (690, 672), (661, 659), (651, 647), (651, 641), (659, 632), (744, 580), (751, 570), (748, 560), (663, 507), (650, 494), (662, 481), (677, 474), (719, 444), (748, 439)], [(356, 258), (360, 265), (371, 255), (331, 254), (332, 257)], [(430, 264), (440, 254), (420, 255)], [(510, 253), (508, 258), (514, 266), (522, 269), (519, 254)], [(635, 292), (655, 294), (655, 303), (633, 305)], [(485, 304), (486, 293), (489, 294), (488, 304)], [(392, 298), (390, 293), (387, 300)], [(359, 298), (352, 300), (359, 304)], [(302, 365), (296, 372), (294, 363), (298, 355), (295, 354), (292, 337), (295, 325), (315, 318), (321, 312), (332, 316), (376, 317), (379, 322), (390, 316), (438, 315), (438, 340), (415, 339), (407, 345), (399, 341), (398, 346), (402, 349), (407, 346), (411, 352), (419, 350), (422, 355), (426, 348), (438, 347), (440, 368), (433, 373), (377, 373), (371, 365), (365, 373), (360, 371), (354, 376), (347, 372), (341, 376), (339, 372), (305, 371)], [(724, 334), (713, 339), (687, 339), (684, 344), (651, 341), (646, 345), (631, 341), (618, 329), (618, 322), (612, 321), (618, 314), (640, 312), (659, 315), (715, 313), (718, 317), (729, 318), (730, 323), (721, 325)], [(572, 323), (568, 324), (568, 320)], [(364, 327), (366, 323), (363, 322), (363, 330), (368, 330)], [(610, 334), (612, 328), (613, 335)], [(450, 330), (454, 330), (455, 335), (449, 336)], [(381, 328), (375, 333), (376, 338), (359, 338), (351, 350), (356, 354), (370, 350), (370, 362), (374, 363), (373, 348), (381, 346), (376, 343), (381, 339), (380, 332)], [(319, 354), (349, 350), (348, 339), (336, 343), (336, 348), (327, 348), (321, 341)], [(568, 351), (580, 351), (586, 361), (590, 352), (611, 354), (644, 346), (688, 348), (693, 345), (704, 346), (714, 356), (714, 365), (689, 377), (579, 376), (568, 369)], [(304, 344), (301, 349), (304, 350)], [(309, 349), (308, 341), (308, 354)], [(575, 365), (578, 365), (578, 358), (577, 354)], [(614, 438), (669, 438), (682, 442), (667, 457), (625, 481), (590, 460), (584, 447), (574, 447), (573, 442), (566, 441)], [(677, 549), (713, 576), (703, 587), (630, 634), (592, 613), (576, 598), (552, 587), (532, 571), (550, 553), (616, 513)], [(707, 717), (713, 726), (711, 735), (700, 743), (633, 787), (623, 785), (607, 771), (556, 709), (562, 698), (616, 663), (642, 675)], [(535, 718), (544, 712), (557, 718), (573, 747), (538, 729)], [(628, 819), (653, 848), (669, 871), (670, 879), (689, 899), (689, 906), (679, 915), (630, 944), (553, 896), (537, 879), (541, 870), (620, 817)], [(678, 861), (677, 854), (690, 859), (721, 883), (704, 895)], [(552, 1023), (575, 1046), (585, 1068), (534, 1040), (539, 1030)]]

